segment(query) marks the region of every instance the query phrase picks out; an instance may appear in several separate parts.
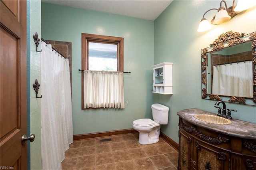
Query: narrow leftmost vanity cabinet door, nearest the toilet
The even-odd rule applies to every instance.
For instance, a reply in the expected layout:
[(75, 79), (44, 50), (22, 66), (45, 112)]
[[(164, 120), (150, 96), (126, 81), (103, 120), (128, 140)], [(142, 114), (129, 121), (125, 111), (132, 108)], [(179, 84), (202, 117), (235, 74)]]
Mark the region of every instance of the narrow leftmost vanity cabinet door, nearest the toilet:
[(179, 130), (179, 170), (192, 170), (193, 138), (186, 132)]

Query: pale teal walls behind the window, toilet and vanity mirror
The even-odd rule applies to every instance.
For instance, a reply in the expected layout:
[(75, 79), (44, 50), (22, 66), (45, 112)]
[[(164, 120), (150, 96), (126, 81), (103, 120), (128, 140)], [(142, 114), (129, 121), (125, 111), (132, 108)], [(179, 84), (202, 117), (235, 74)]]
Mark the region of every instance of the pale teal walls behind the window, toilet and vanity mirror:
[[(231, 6), (232, 1), (226, 1)], [(216, 113), (215, 101), (201, 99), (201, 54), (222, 33), (232, 30), (248, 34), (256, 31), (256, 10), (238, 14), (230, 21), (213, 26), (204, 33), (196, 30), (214, 0), (174, 0), (155, 20), (82, 10), (42, 3), (42, 37), (46, 40), (72, 42), (72, 111), (74, 134), (86, 134), (132, 128), (132, 121), (151, 118), (150, 105), (161, 103), (170, 108), (168, 125), (161, 130), (178, 142), (177, 112), (198, 108)], [(211, 20), (215, 12), (208, 12)], [(126, 74), (124, 110), (81, 110), (81, 33), (124, 37)], [(152, 65), (173, 62), (173, 95), (152, 94)], [(256, 107), (227, 103), (238, 110), (234, 119), (256, 123)]]

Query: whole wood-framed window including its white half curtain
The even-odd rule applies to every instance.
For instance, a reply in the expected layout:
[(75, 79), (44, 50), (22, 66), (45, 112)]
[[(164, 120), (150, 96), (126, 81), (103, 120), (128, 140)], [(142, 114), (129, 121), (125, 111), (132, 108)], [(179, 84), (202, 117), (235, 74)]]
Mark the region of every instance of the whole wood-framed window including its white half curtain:
[[(87, 70), (82, 76), (82, 109), (124, 108), (123, 73), (116, 75), (124, 71), (123, 49), (124, 38), (82, 33), (82, 69)], [(101, 78), (94, 79), (93, 74)]]

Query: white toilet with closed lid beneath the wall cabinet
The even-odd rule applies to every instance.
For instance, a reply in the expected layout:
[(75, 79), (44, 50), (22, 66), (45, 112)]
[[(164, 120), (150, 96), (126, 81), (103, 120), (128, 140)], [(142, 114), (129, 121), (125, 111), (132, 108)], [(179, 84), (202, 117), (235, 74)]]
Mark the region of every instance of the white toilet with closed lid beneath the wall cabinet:
[(153, 120), (137, 119), (133, 121), (133, 128), (140, 132), (140, 144), (152, 144), (159, 140), (160, 126), (167, 125), (169, 108), (161, 104), (151, 105)]

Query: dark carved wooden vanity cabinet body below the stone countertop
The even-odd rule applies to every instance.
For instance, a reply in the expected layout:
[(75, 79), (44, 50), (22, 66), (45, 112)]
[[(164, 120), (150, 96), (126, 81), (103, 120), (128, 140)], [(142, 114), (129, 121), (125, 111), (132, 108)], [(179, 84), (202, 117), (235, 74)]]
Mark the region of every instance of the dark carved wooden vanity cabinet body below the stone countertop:
[(180, 118), (179, 170), (256, 170), (256, 140), (221, 134)]

